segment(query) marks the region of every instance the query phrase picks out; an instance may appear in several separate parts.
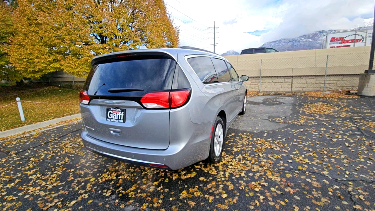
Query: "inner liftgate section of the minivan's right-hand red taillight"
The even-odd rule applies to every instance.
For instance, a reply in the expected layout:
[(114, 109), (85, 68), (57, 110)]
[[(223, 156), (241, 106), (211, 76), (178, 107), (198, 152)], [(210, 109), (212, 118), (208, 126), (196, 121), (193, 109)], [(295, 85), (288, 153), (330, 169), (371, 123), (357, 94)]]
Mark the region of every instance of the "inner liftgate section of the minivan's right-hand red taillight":
[(142, 97), (141, 102), (148, 109), (167, 109), (169, 108), (169, 92), (147, 93)]

